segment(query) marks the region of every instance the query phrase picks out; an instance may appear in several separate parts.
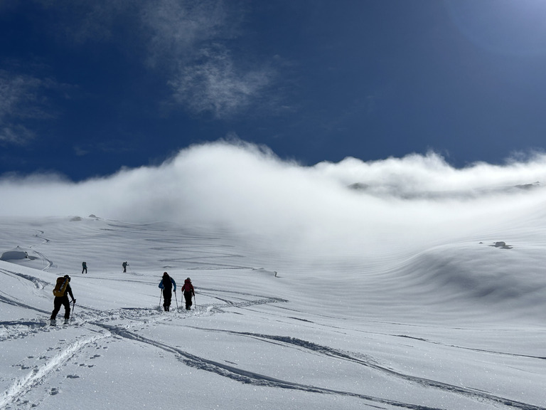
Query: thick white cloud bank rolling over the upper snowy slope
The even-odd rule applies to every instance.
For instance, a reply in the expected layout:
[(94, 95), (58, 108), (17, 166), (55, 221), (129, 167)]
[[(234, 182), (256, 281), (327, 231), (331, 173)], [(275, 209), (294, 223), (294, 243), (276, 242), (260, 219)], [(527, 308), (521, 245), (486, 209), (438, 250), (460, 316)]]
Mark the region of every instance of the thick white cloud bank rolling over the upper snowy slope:
[(522, 224), (543, 229), (545, 165), (539, 155), (454, 169), (436, 154), (414, 154), (303, 167), (254, 145), (216, 142), (78, 184), (4, 177), (0, 215), (173, 221), (230, 228), (279, 252), (378, 256), (458, 238), (509, 242)]

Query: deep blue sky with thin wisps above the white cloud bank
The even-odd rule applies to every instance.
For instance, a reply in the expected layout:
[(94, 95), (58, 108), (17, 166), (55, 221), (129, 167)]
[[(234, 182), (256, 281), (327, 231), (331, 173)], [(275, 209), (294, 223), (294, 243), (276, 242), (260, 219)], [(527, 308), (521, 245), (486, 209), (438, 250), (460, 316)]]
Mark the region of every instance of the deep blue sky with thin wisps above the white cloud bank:
[(0, 175), (240, 139), (301, 164), (544, 152), (542, 0), (0, 1)]

